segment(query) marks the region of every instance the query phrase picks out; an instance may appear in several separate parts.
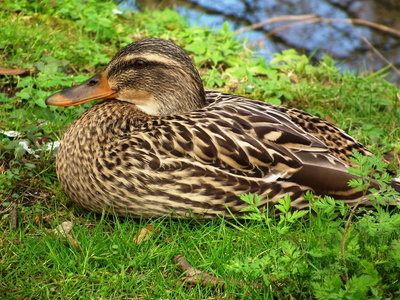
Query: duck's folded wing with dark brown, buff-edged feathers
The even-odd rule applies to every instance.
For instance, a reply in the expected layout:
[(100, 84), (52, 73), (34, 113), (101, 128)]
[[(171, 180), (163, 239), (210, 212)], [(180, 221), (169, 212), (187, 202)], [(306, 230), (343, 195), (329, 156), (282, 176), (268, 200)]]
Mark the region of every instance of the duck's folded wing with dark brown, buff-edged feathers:
[(220, 193), (221, 199), (252, 192), (270, 200), (289, 193), (301, 201), (305, 190), (343, 200), (362, 196), (347, 184), (355, 178), (347, 164), (284, 111), (233, 95), (208, 95), (206, 108), (161, 118), (138, 133), (135, 151), (143, 151), (151, 172), (174, 178), (177, 190), (192, 191), (188, 182), (202, 182), (209, 192), (201, 194)]

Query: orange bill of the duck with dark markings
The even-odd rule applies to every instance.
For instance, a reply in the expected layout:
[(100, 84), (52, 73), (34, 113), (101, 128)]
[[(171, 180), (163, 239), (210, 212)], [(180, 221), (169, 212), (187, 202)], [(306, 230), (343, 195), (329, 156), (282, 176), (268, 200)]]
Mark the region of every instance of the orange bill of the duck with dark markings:
[(108, 85), (107, 71), (94, 75), (84, 83), (58, 92), (46, 99), (47, 105), (72, 106), (92, 100), (117, 98), (118, 93)]

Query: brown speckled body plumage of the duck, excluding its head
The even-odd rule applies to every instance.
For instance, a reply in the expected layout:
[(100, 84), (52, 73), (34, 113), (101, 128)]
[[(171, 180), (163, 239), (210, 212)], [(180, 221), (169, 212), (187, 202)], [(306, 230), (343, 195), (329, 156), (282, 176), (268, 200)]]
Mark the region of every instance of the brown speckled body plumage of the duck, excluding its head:
[[(87, 111), (58, 153), (57, 173), (68, 196), (90, 210), (113, 205), (120, 215), (144, 217), (226, 215), (225, 205), (238, 213), (245, 207), (237, 197), (243, 193), (259, 194), (263, 205), (267, 197), (275, 202), (289, 193), (295, 208), (307, 206), (306, 190), (338, 199), (360, 196), (347, 187), (345, 164), (275, 106), (217, 92), (207, 96), (206, 108), (179, 116), (151, 117), (115, 100)], [(345, 138), (343, 143), (359, 147)], [(320, 191), (315, 179), (293, 182), (306, 161), (309, 174), (302, 177), (322, 168), (341, 189), (333, 184)]]

